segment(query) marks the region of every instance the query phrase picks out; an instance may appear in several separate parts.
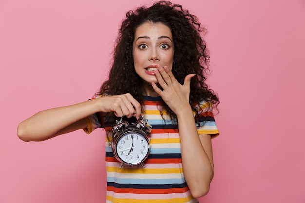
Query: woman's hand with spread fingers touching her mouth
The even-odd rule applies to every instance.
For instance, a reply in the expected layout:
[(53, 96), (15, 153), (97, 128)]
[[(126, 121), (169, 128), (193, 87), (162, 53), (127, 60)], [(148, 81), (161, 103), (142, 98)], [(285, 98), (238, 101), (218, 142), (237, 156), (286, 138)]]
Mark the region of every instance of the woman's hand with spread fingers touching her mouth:
[(190, 107), (190, 81), (195, 74), (188, 74), (184, 78), (184, 83), (181, 85), (172, 74), (172, 71), (167, 67), (157, 66), (155, 76), (163, 91), (152, 82), (152, 88), (163, 99), (163, 101), (172, 109), (174, 113), (178, 113), (183, 107)]

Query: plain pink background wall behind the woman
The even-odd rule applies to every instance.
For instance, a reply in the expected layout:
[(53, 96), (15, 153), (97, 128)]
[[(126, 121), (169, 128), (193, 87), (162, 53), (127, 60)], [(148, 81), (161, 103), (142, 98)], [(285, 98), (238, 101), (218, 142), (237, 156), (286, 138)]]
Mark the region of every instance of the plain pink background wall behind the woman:
[[(104, 202), (103, 130), (25, 143), (16, 128), (90, 98), (125, 12), (151, 2), (0, 1), (0, 203)], [(221, 99), (215, 177), (201, 202), (304, 203), (305, 1), (175, 2), (208, 27), (209, 83)]]

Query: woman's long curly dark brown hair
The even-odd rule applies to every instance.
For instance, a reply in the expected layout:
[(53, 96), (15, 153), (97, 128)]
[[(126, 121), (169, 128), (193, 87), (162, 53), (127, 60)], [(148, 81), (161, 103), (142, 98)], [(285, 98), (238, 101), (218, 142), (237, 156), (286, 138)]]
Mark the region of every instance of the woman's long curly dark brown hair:
[[(202, 100), (212, 104), (210, 108), (217, 108), (218, 96), (205, 83), (210, 57), (201, 34), (205, 34), (206, 29), (201, 26), (196, 16), (170, 1), (159, 1), (148, 8), (142, 6), (126, 13), (126, 19), (123, 20), (116, 39), (109, 79), (102, 84), (98, 94), (130, 93), (140, 103), (143, 101), (142, 80), (135, 72), (132, 53), (135, 31), (146, 22), (160, 22), (170, 28), (175, 49), (172, 73), (178, 82), (183, 84), (186, 75), (196, 74), (191, 79), (189, 99), (196, 115), (202, 112), (202, 109), (196, 106)], [(160, 111), (166, 111), (172, 121), (177, 123), (177, 116), (167, 105)]]

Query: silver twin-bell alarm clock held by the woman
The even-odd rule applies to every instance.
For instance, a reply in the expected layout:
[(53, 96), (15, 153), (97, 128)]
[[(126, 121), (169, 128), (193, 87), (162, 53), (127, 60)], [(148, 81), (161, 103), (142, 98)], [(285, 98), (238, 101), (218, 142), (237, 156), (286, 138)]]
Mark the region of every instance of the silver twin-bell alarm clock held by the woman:
[(116, 121), (112, 127), (114, 137), (111, 147), (114, 157), (123, 164), (138, 165), (148, 157), (150, 151), (150, 138), (148, 133), (152, 130), (147, 120), (141, 117), (136, 123), (129, 124), (123, 117)]

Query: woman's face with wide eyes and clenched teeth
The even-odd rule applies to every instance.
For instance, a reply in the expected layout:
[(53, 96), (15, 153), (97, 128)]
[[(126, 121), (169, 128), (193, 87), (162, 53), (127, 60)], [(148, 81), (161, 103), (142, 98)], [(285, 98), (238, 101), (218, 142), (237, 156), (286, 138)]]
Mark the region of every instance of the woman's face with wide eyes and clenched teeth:
[(133, 41), (134, 68), (144, 85), (158, 83), (154, 72), (157, 64), (172, 70), (173, 55), (172, 32), (168, 26), (160, 22), (146, 22), (136, 29)]

